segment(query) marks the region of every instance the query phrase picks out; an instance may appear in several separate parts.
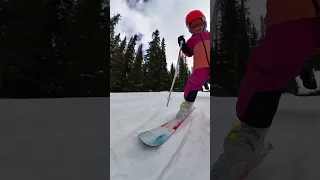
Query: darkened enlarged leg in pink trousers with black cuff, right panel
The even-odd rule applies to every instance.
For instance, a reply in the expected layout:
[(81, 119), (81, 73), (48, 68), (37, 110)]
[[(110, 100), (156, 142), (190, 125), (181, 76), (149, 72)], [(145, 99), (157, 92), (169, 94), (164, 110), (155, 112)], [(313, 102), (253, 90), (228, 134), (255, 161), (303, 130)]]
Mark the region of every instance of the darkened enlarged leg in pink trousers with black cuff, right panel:
[(281, 91), (298, 76), (319, 41), (317, 18), (284, 22), (267, 31), (252, 53), (238, 93), (239, 119), (256, 128), (268, 128)]

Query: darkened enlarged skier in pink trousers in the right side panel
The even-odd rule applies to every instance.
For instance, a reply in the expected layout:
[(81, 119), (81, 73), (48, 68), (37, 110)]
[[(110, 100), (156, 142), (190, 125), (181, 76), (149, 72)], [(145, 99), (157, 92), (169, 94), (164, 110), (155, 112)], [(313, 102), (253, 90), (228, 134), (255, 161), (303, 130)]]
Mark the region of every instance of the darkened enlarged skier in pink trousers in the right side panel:
[[(287, 82), (320, 47), (320, 0), (268, 0), (266, 37), (252, 52), (238, 91), (241, 123), (226, 136), (211, 178), (236, 180), (256, 162)], [(316, 13), (314, 11), (316, 9)]]

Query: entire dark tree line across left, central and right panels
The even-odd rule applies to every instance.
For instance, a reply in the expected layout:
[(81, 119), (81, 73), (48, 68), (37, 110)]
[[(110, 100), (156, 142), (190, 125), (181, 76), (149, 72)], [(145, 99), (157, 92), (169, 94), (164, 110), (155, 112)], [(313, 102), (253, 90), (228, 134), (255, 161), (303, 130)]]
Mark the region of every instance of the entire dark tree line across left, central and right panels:
[[(211, 49), (211, 95), (236, 96), (253, 48), (265, 35), (250, 18), (247, 0), (223, 1)], [(115, 32), (121, 16), (110, 17), (109, 0), (3, 0), (0, 2), (0, 97), (109, 96), (109, 92), (167, 91), (176, 68), (167, 68), (166, 42), (159, 30), (148, 49), (138, 35)], [(319, 55), (310, 58), (320, 69)], [(190, 76), (179, 61), (174, 91)], [(295, 80), (288, 92), (296, 93)]]

